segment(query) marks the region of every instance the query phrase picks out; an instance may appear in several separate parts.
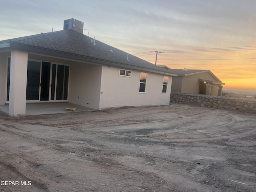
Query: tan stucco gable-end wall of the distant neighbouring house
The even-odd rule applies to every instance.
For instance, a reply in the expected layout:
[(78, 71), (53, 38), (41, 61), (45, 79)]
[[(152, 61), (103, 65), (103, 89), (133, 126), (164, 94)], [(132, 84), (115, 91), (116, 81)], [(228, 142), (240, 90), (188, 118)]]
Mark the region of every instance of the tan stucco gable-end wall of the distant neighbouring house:
[[(204, 72), (194, 75), (183, 76), (181, 93), (198, 94), (199, 81), (198, 79), (217, 81), (210, 72)], [(212, 85), (211, 95), (218, 95), (218, 86)]]

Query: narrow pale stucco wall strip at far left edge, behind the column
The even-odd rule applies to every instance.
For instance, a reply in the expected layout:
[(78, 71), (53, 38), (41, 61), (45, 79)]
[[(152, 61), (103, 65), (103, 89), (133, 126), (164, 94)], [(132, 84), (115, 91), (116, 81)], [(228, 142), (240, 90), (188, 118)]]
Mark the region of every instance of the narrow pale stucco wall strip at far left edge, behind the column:
[(7, 57), (0, 54), (0, 105), (4, 105), (6, 101), (6, 73)]

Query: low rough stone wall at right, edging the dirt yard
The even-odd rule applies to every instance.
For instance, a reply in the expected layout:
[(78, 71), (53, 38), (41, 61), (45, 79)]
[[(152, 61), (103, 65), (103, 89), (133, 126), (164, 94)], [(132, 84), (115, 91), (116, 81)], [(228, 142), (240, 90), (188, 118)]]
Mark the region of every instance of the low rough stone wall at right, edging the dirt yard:
[(256, 99), (242, 99), (172, 92), (170, 103), (183, 103), (214, 109), (234, 110), (256, 114)]

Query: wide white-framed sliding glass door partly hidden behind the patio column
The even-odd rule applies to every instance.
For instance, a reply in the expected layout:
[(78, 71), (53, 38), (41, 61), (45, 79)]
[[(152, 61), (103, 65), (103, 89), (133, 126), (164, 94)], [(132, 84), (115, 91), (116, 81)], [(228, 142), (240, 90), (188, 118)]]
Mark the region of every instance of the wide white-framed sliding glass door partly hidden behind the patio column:
[[(69, 66), (28, 60), (27, 101), (68, 100)], [(7, 93), (10, 90), (10, 58), (8, 58)]]

